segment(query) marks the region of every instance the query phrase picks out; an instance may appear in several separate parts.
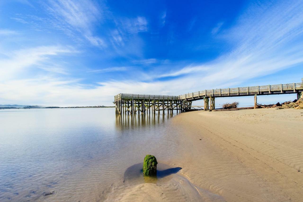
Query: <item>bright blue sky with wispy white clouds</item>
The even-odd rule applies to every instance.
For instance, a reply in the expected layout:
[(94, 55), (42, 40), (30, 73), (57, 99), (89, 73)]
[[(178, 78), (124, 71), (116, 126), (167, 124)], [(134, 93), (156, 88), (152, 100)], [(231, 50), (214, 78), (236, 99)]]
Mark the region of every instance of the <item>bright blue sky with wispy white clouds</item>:
[[(303, 1), (0, 1), (4, 105), (113, 106), (118, 93), (301, 82), (302, 69)], [(254, 102), (216, 105), (233, 101)]]

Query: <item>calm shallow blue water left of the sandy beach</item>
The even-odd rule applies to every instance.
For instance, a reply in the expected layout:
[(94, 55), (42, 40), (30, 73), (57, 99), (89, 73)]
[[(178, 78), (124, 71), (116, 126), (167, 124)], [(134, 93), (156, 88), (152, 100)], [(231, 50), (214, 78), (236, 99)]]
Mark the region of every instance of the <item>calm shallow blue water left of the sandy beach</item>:
[[(180, 169), (163, 164), (181, 152), (168, 135), (175, 115), (2, 109), (0, 201), (102, 201), (115, 187), (168, 180)], [(138, 173), (146, 154), (157, 157), (163, 176), (146, 181)]]

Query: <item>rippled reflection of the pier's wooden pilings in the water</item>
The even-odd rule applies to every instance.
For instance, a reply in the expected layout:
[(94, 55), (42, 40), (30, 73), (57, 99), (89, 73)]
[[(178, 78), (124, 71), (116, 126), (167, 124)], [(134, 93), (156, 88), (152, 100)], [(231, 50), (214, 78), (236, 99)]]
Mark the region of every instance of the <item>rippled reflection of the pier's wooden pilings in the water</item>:
[(116, 114), (116, 126), (123, 128), (144, 127), (164, 123), (177, 113), (144, 113), (144, 114)]

